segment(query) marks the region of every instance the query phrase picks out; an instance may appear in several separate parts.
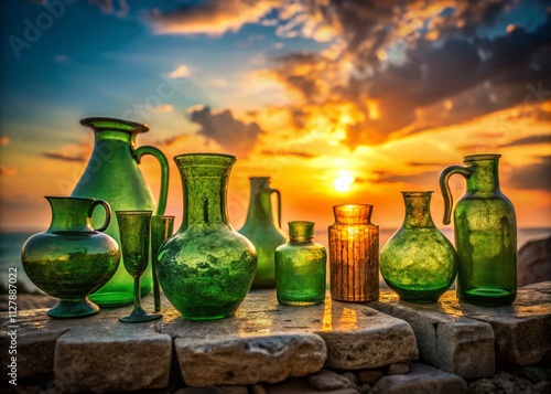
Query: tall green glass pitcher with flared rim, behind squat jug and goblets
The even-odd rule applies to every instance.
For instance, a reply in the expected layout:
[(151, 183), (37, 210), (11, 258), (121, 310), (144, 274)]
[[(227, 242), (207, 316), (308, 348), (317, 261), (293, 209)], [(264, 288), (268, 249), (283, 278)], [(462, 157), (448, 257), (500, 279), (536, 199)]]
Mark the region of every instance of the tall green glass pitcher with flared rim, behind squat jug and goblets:
[[(90, 196), (106, 200), (114, 211), (154, 211), (162, 215), (166, 206), (169, 188), (169, 162), (166, 157), (154, 147), (136, 148), (136, 137), (145, 132), (145, 125), (133, 121), (95, 117), (80, 120), (95, 134), (95, 145), (88, 166), (73, 190), (72, 196)], [(161, 163), (161, 191), (159, 205), (138, 168), (144, 155), (154, 156)], [(102, 217), (94, 214), (94, 223), (101, 223)], [(120, 244), (117, 221), (111, 221), (105, 232)], [(151, 259), (141, 279), (141, 294), (151, 291)], [(133, 301), (133, 278), (120, 264), (115, 276), (89, 298), (100, 307), (116, 307)]]

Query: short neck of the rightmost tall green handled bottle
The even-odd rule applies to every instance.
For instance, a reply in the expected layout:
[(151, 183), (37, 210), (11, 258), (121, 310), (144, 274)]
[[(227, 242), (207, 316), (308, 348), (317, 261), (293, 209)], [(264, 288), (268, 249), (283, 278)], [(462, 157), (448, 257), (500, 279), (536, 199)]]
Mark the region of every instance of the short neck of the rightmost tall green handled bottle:
[(472, 173), (467, 177), (467, 190), (472, 193), (499, 191), (499, 155), (480, 155), (465, 158)]

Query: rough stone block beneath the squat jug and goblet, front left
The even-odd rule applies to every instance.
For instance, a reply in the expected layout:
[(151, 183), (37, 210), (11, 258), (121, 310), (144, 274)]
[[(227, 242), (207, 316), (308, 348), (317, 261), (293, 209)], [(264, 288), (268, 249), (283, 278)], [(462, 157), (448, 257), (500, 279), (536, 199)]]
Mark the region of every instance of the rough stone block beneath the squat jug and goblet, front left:
[(171, 337), (156, 332), (154, 322), (128, 324), (116, 320), (128, 311), (106, 312), (94, 324), (88, 320), (88, 324), (80, 323), (57, 340), (57, 387), (75, 393), (152, 390), (169, 384)]

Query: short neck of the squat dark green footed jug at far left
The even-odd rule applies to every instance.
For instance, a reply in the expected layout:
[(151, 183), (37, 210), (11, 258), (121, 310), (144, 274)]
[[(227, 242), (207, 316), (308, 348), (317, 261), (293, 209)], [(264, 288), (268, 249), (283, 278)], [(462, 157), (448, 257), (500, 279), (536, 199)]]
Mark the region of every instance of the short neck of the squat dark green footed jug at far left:
[(46, 196), (52, 207), (52, 221), (47, 232), (94, 232), (90, 207), (94, 200), (79, 198)]

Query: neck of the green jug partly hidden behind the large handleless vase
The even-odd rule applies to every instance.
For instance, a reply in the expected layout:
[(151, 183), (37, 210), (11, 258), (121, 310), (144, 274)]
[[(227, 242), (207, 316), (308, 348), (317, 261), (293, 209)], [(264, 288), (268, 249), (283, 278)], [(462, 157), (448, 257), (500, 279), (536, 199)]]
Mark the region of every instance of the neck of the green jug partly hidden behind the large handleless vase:
[(250, 178), (250, 199), (245, 226), (273, 225), (269, 177)]

